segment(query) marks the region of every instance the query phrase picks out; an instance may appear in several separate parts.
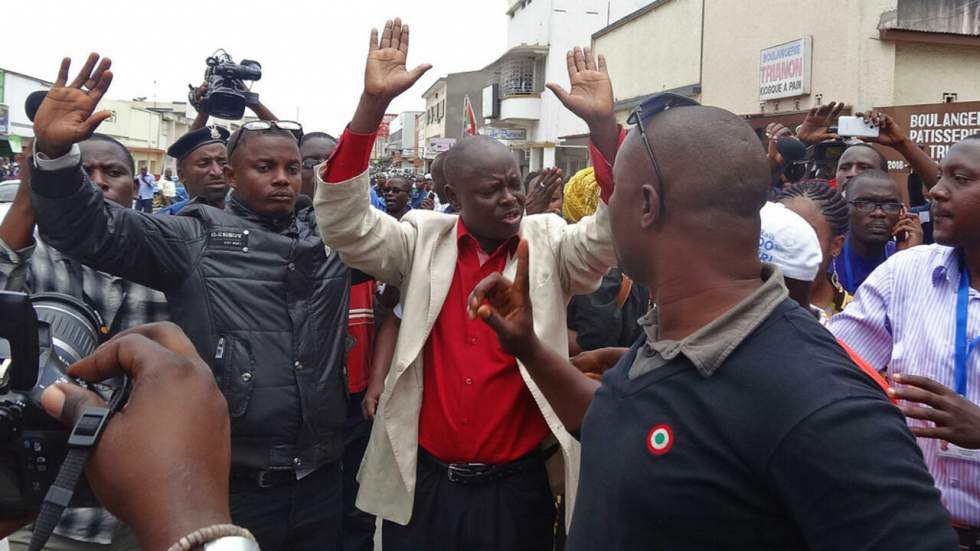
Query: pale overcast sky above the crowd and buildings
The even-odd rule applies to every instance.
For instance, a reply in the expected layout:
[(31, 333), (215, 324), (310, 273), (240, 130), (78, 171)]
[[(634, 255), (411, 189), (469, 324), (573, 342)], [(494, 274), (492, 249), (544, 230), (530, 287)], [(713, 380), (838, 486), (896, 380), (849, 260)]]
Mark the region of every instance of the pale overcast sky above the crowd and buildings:
[[(433, 68), (392, 104), (422, 110), (421, 94), (446, 73), (481, 69), (504, 52), (506, 0), (14, 0), (0, 67), (54, 80), (92, 51), (112, 58), (108, 97), (183, 100), (217, 48), (262, 64), (253, 91), (307, 131), (339, 132), (360, 94), (371, 27), (400, 16), (412, 29), (408, 65)], [(154, 84), (156, 81), (156, 84)]]

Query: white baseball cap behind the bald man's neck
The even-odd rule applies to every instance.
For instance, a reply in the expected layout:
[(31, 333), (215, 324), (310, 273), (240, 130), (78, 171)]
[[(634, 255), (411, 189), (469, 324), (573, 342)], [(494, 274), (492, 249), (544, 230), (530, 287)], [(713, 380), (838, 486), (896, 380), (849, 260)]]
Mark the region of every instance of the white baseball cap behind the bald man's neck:
[(759, 260), (779, 266), (788, 278), (815, 281), (823, 255), (813, 227), (781, 203), (767, 202), (759, 215)]

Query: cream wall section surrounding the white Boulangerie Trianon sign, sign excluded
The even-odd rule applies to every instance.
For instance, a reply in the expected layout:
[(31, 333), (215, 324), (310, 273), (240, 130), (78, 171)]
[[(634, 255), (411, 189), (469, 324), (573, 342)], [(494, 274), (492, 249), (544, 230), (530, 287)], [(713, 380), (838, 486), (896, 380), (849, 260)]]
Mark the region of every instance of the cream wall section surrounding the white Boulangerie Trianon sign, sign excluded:
[[(817, 95), (823, 103), (841, 100), (858, 109), (890, 105), (895, 46), (878, 38), (878, 23), (896, 5), (897, 0), (707, 0), (702, 101), (736, 113), (759, 112), (760, 51), (809, 35), (811, 93), (798, 98), (799, 109), (815, 105)], [(794, 110), (795, 98), (765, 105), (767, 113)]]

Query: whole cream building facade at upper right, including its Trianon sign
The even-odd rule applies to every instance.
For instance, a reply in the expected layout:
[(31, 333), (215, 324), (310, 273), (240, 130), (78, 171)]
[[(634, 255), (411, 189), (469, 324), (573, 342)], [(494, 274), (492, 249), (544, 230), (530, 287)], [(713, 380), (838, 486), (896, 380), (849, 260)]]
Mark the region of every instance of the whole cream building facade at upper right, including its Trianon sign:
[[(606, 56), (621, 120), (647, 95), (674, 91), (764, 126), (830, 101), (863, 111), (980, 99), (977, 15), (972, 26), (946, 26), (971, 4), (657, 0), (592, 42)], [(922, 21), (932, 26), (914, 26)]]

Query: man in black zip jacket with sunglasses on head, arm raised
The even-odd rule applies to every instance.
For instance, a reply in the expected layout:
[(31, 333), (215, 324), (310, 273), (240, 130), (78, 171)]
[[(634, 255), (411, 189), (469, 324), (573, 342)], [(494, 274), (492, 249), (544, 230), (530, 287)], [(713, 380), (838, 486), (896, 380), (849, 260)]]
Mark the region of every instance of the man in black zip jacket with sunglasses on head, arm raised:
[(276, 122), (233, 135), (225, 176), (234, 194), (224, 210), (123, 208), (79, 167), (77, 143), (109, 115), (93, 114), (112, 78), (108, 59), (96, 63), (92, 54), (66, 85), (66, 59), (35, 119), (41, 235), (97, 270), (166, 294), (228, 402), (233, 520), (263, 549), (333, 549), (351, 271), (324, 247), (313, 210), (293, 211), (297, 137)]

